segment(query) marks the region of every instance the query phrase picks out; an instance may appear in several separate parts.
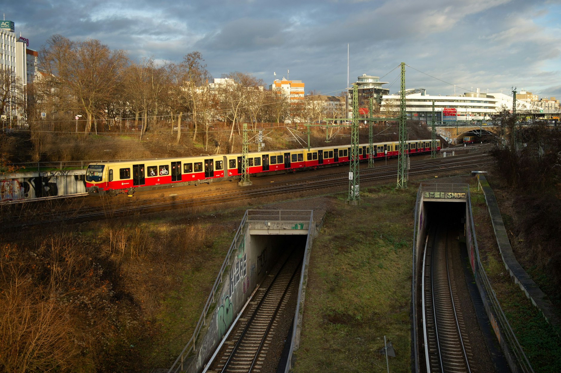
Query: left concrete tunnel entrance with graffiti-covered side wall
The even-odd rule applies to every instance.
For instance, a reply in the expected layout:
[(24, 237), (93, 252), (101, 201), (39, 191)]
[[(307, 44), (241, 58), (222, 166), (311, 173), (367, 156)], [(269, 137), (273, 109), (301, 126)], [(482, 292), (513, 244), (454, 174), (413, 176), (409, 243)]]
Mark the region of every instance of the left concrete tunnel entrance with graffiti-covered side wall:
[[(186, 372), (200, 372), (205, 368), (217, 347), (226, 343), (229, 331), (236, 324), (236, 318), (241, 315), (245, 305), (251, 301), (256, 286), (266, 283), (269, 274), (273, 274), (271, 271), (275, 265), (281, 261), (284, 263), (284, 257), (289, 253), (295, 252), (304, 258), (314, 234), (315, 222), (311, 210), (246, 211), (209, 295), (197, 330), (177, 358), (176, 364), (181, 364), (181, 370), (186, 368)], [(293, 263), (293, 259), (291, 260)], [(305, 267), (305, 260), (306, 258), (301, 268)], [(276, 271), (275, 269), (274, 272)], [(301, 277), (298, 276), (297, 288), (300, 280)], [(287, 325), (277, 328), (275, 332), (280, 339), (280, 346), (277, 346), (279, 364), (283, 364), (283, 360), (286, 361), (289, 355), (297, 298), (298, 291), (296, 299), (284, 302), (283, 319)]]

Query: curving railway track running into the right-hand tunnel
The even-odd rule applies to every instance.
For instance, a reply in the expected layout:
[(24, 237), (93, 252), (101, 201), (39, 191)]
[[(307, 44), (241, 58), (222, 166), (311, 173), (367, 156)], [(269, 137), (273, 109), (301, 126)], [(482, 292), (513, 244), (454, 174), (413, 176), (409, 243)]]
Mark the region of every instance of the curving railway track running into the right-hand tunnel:
[(430, 373), (474, 371), (454, 281), (450, 235), (449, 230), (433, 230), (424, 255), (423, 330), (426, 367)]

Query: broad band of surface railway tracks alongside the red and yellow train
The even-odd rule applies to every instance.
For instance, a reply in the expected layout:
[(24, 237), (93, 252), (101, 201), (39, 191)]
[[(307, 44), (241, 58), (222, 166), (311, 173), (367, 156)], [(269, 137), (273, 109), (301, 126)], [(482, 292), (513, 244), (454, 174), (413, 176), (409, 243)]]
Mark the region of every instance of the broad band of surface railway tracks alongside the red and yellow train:
[[(487, 153), (471, 153), (469, 155), (458, 155), (454, 157), (437, 158), (436, 160), (418, 160), (411, 162), (409, 171), (410, 178), (413, 176), (434, 174), (443, 171), (473, 169), (494, 164), (493, 158)], [(123, 201), (123, 198), (113, 197), (82, 197), (77, 199), (76, 206), (71, 204), (68, 208), (48, 206), (45, 203), (38, 208), (14, 208), (11, 206), (10, 213), (2, 213), (0, 222), (6, 227), (23, 227), (40, 225), (45, 222), (70, 222), (78, 223), (84, 221), (98, 220), (107, 217), (123, 217), (135, 213), (148, 213), (166, 211), (169, 209), (185, 208), (191, 206), (203, 206), (208, 204), (239, 201), (268, 197), (270, 195), (282, 195), (287, 193), (301, 193), (328, 188), (344, 187), (348, 184), (348, 174), (337, 167), (333, 174), (329, 175), (302, 175), (297, 174), (296, 179), (279, 180), (277, 176), (265, 176), (257, 178), (257, 185), (240, 188), (234, 183), (224, 184), (223, 189), (209, 191), (204, 186), (187, 186), (185, 194), (173, 197), (151, 198), (140, 201)], [(373, 169), (363, 167), (360, 173), (362, 183), (380, 180), (390, 180), (397, 177), (396, 165), (376, 165)], [(270, 181), (270, 180), (273, 180)], [(269, 181), (269, 183), (267, 183)], [(176, 189), (165, 189), (167, 192), (175, 192)], [(139, 193), (139, 195), (142, 195)], [(92, 206), (88, 206), (90, 198)], [(27, 204), (29, 206), (29, 204)]]

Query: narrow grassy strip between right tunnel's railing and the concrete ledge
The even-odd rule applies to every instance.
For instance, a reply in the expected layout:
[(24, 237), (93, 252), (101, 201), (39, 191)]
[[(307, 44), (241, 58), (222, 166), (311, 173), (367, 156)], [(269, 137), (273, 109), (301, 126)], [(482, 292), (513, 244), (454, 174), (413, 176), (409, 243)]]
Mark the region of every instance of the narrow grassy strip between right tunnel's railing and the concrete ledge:
[(472, 187), (471, 198), (481, 261), (519, 343), (536, 372), (561, 371), (559, 335), (504, 268), (482, 190)]

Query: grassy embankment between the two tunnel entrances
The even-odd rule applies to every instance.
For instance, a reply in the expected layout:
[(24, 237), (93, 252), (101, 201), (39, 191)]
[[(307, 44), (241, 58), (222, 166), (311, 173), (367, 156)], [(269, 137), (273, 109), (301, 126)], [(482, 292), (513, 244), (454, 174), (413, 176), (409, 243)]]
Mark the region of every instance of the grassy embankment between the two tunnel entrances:
[(302, 343), (295, 372), (385, 372), (384, 335), (410, 370), (413, 207), (417, 188), (365, 189), (362, 204), (340, 197), (310, 258)]

